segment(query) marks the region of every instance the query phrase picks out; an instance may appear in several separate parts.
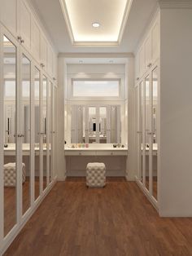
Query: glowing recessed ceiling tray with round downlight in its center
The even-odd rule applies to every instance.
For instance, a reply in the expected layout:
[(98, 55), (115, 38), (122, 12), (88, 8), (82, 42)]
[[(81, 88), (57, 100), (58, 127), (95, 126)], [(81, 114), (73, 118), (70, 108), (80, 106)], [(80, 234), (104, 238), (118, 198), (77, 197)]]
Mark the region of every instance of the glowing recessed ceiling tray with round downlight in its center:
[(132, 0), (59, 0), (75, 45), (119, 45)]

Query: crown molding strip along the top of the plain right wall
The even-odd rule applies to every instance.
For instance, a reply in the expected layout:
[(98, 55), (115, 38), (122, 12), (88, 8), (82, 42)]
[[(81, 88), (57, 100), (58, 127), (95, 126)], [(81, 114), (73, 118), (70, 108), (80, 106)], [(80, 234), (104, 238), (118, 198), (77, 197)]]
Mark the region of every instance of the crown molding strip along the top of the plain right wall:
[(191, 0), (158, 0), (161, 9), (191, 9)]

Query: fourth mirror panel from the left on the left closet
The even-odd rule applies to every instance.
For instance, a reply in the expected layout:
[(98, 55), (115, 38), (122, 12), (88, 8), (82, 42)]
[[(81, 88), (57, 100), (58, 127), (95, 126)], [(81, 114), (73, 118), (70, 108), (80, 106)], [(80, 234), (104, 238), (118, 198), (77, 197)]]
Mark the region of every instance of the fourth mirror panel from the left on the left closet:
[(46, 189), (46, 123), (47, 123), (47, 78), (42, 77), (42, 134), (43, 134), (43, 190)]

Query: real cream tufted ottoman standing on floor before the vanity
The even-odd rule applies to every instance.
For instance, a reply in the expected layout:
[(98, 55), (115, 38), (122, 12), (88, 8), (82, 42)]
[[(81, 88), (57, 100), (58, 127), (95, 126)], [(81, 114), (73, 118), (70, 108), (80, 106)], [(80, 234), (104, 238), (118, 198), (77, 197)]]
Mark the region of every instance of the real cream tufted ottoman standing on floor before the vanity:
[(89, 163), (86, 168), (86, 185), (104, 187), (106, 185), (106, 167), (103, 163)]

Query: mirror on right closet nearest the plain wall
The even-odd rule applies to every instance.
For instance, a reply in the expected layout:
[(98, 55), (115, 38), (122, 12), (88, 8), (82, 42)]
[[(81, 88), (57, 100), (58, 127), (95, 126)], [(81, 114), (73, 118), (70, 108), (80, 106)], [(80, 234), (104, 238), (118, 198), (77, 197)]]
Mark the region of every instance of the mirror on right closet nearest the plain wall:
[(158, 74), (157, 67), (152, 72), (152, 134), (153, 134), (153, 157), (152, 157), (152, 195), (157, 200), (157, 99), (158, 99)]

